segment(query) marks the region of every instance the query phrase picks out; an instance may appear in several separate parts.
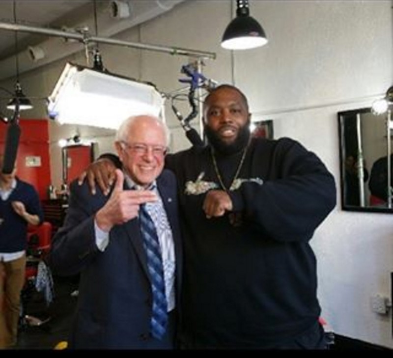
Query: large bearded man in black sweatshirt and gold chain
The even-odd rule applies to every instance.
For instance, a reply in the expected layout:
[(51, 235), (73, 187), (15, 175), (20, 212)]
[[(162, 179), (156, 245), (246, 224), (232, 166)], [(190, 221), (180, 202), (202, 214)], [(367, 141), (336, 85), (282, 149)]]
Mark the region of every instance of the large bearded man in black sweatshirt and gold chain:
[[(309, 241), (336, 205), (334, 177), (293, 139), (251, 138), (234, 86), (209, 93), (203, 119), (209, 144), (166, 158), (184, 239), (182, 347), (326, 348)], [(90, 185), (108, 178), (102, 162)]]

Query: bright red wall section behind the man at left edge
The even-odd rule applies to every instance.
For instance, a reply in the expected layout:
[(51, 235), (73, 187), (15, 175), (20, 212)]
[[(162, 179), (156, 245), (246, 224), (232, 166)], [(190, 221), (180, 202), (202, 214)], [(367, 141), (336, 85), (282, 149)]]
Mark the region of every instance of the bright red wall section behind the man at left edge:
[[(47, 189), (51, 184), (49, 161), (49, 129), (46, 119), (21, 119), (21, 137), (16, 159), (17, 176), (33, 185), (41, 199), (47, 199)], [(7, 124), (0, 122), (0, 151), (3, 152)], [(26, 157), (41, 158), (41, 166), (27, 166)]]

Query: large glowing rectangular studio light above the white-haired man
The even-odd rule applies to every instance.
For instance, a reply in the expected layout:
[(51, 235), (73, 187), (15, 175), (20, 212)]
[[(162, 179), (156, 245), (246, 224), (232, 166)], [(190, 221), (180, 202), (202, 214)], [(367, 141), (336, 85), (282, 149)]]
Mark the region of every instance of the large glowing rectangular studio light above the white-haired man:
[(49, 117), (60, 124), (117, 129), (132, 115), (160, 116), (164, 98), (148, 83), (67, 62), (48, 98)]

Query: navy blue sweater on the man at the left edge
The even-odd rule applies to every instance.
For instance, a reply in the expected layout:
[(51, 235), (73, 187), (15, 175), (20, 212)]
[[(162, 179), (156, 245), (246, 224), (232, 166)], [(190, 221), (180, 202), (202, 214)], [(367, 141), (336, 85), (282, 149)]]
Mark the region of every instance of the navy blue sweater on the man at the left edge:
[(27, 247), (28, 222), (18, 215), (12, 208), (13, 201), (25, 204), (26, 211), (31, 215), (38, 215), (40, 223), (44, 220), (40, 200), (34, 187), (18, 178), (16, 188), (7, 200), (0, 198), (0, 252), (17, 252)]

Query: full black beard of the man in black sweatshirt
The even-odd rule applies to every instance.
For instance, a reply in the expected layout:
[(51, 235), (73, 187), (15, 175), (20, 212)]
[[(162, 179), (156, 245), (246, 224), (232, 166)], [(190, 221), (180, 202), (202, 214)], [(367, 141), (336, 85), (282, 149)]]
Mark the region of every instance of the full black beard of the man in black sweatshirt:
[(241, 127), (236, 139), (230, 144), (226, 144), (223, 140), (221, 140), (217, 133), (208, 125), (205, 126), (204, 133), (214, 150), (221, 154), (229, 155), (237, 153), (247, 146), (250, 139), (250, 126), (249, 122), (247, 122), (246, 125)]

